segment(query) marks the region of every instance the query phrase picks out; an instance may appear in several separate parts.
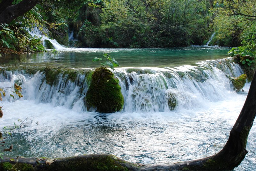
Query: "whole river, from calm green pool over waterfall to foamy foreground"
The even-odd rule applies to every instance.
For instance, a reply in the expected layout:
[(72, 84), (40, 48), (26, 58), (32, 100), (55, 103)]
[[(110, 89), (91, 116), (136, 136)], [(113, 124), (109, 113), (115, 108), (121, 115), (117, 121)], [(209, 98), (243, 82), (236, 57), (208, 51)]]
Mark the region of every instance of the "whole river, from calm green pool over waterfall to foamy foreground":
[[(228, 140), (250, 86), (246, 83), (244, 92), (233, 90), (227, 75), (237, 77), (243, 71), (227, 58), (227, 51), (208, 46), (63, 48), (57, 54), (3, 56), (0, 87), (18, 82), (24, 97), (4, 98), (1, 127), (29, 118), (6, 140), (13, 151), (5, 155), (59, 158), (111, 153), (141, 164), (210, 156)], [(88, 112), (84, 104), (86, 74), (100, 66), (92, 58), (103, 53), (120, 63), (113, 72), (120, 81), (124, 108), (112, 114)], [(61, 70), (52, 85), (47, 84), (44, 67)], [(75, 78), (65, 71), (75, 72)], [(171, 94), (177, 103), (172, 109), (167, 102)], [(255, 170), (255, 137), (254, 124), (248, 154), (235, 170)]]

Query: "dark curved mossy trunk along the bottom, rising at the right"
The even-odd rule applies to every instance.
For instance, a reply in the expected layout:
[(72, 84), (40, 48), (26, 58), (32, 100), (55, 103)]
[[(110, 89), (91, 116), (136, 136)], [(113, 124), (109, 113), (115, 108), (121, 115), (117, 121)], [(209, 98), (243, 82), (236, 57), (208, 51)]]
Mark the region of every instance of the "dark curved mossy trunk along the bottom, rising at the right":
[[(255, 72), (256, 73), (256, 72)], [(229, 139), (223, 149), (217, 154), (199, 160), (171, 164), (168, 166), (142, 166), (119, 159), (111, 154), (83, 155), (57, 160), (37, 158), (4, 157), (0, 160), (0, 170), (18, 168), (22, 170), (198, 170), (219, 171), (232, 170), (237, 167), (247, 154), (245, 149), (248, 134), (256, 115), (256, 74), (252, 79), (244, 107), (235, 125), (230, 131)], [(17, 161), (18, 160), (18, 161)], [(51, 164), (51, 165), (50, 165)]]

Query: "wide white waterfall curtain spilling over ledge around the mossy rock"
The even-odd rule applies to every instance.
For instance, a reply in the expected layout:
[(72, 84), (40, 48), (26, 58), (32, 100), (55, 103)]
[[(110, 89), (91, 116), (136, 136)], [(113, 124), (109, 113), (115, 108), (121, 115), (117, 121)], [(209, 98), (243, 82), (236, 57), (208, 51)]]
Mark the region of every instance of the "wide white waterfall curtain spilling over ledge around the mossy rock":
[[(179, 109), (200, 108), (208, 102), (232, 98), (236, 93), (228, 79), (243, 73), (231, 59), (203, 61), (199, 66), (184, 65), (175, 68), (124, 68), (116, 69), (124, 95), (124, 112), (161, 112)], [(49, 83), (44, 70), (36, 74), (26, 71), (0, 70), (0, 87), (21, 84), (24, 97), (40, 103), (51, 103), (76, 111), (86, 111), (85, 96), (88, 90), (90, 69), (56, 70), (55, 79)], [(11, 90), (6, 90), (11, 93)], [(4, 98), (13, 101), (16, 97)], [(171, 106), (172, 107), (171, 107)]]

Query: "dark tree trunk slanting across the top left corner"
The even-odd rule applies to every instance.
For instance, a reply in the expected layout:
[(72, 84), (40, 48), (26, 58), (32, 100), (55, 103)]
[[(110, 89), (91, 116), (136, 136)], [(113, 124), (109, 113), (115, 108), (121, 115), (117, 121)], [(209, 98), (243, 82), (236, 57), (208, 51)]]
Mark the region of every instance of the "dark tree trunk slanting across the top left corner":
[[(20, 15), (25, 14), (27, 11), (31, 10), (39, 0), (23, 0), (19, 4), (12, 5), (10, 0), (6, 3), (5, 0), (1, 3), (3, 6), (0, 7), (0, 24), (9, 24), (13, 19), (16, 19)], [(5, 7), (5, 8), (4, 8)]]

